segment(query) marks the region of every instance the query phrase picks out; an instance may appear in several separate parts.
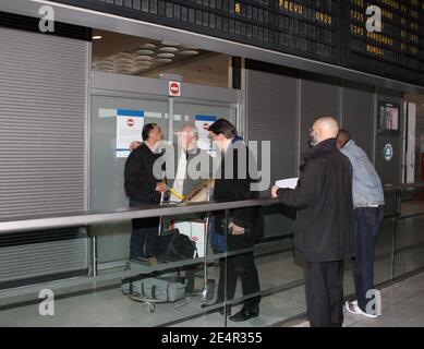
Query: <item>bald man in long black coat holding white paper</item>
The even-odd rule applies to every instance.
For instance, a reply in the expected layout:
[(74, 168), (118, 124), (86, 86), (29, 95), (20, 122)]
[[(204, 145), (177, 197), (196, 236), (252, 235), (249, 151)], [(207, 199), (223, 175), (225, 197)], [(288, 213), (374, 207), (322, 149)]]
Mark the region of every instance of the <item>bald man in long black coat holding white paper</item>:
[(343, 323), (343, 260), (353, 255), (351, 164), (336, 146), (338, 122), (317, 119), (311, 129), (312, 148), (295, 189), (274, 186), (271, 194), (296, 208), (294, 248), (304, 261), (307, 316), (311, 326)]

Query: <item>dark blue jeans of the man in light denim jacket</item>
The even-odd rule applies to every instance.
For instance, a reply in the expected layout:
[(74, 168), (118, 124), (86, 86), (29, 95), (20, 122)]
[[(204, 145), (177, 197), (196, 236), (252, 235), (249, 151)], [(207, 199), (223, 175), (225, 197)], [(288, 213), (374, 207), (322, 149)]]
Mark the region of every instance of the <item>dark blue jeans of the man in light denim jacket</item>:
[(384, 216), (384, 206), (354, 209), (354, 281), (358, 304), (366, 311), (366, 292), (374, 289), (374, 249)]

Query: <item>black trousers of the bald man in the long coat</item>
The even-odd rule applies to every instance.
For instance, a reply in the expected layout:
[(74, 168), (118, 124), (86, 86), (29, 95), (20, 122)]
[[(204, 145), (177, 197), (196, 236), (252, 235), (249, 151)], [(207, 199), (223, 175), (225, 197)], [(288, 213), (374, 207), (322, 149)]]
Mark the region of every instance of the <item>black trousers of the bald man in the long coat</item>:
[(343, 261), (305, 262), (305, 290), (311, 327), (341, 327)]

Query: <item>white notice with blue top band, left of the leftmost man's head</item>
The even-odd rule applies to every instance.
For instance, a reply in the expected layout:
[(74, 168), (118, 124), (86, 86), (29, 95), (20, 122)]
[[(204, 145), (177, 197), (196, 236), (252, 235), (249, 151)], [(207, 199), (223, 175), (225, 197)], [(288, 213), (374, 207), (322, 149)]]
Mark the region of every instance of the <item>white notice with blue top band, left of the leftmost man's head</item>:
[(143, 110), (117, 110), (117, 157), (125, 158), (130, 155), (130, 143), (141, 140), (143, 127)]

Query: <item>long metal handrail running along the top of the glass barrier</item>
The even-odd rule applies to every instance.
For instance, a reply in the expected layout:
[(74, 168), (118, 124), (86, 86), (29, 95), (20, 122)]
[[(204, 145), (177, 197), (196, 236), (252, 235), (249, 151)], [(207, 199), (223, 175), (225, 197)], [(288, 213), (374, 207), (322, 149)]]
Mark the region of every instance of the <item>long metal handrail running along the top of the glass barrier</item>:
[[(424, 182), (384, 185), (385, 192), (424, 188)], [(166, 204), (166, 205), (143, 205), (132, 208), (118, 208), (114, 210), (85, 210), (69, 214), (57, 214), (51, 216), (26, 216), (10, 217), (0, 220), (0, 234), (24, 230), (53, 229), (74, 226), (85, 226), (90, 224), (113, 222), (120, 220), (130, 220), (134, 218), (148, 218), (159, 216), (180, 216), (203, 212), (246, 208), (255, 206), (269, 206), (278, 204), (278, 198), (258, 198), (243, 200), (235, 202), (202, 202), (186, 204)]]

